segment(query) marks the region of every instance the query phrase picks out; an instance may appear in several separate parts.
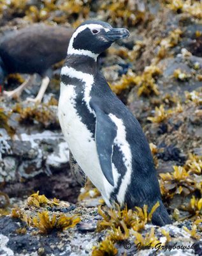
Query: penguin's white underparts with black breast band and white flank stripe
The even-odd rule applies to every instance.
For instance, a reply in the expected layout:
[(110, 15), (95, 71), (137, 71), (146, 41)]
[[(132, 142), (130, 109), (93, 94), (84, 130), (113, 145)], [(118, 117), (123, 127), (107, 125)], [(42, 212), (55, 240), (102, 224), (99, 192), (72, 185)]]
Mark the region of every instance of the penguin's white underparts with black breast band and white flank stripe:
[[(90, 92), (94, 83), (92, 74), (83, 73), (72, 67), (65, 66), (62, 68), (59, 120), (73, 156), (82, 170), (101, 191), (106, 203), (110, 205), (111, 194), (116, 189), (118, 192), (116, 200), (122, 204), (131, 180), (131, 148), (126, 140), (126, 127), (123, 121), (110, 113), (108, 116), (117, 127), (114, 147), (116, 146), (117, 150), (120, 151), (126, 169), (125, 175), (121, 176), (115, 164), (112, 163), (114, 179), (114, 186), (112, 186), (105, 179), (97, 156), (95, 142), (96, 113), (90, 107)], [(86, 159), (87, 156), (89, 161)], [(120, 184), (119, 188), (117, 188), (118, 184)]]

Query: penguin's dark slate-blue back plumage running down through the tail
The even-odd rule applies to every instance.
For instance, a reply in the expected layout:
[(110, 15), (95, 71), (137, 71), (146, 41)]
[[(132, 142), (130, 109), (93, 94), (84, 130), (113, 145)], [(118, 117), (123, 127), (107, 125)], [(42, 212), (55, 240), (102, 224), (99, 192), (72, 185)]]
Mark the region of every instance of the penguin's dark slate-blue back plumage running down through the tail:
[[(131, 147), (131, 153), (133, 156), (133, 173), (125, 195), (125, 202), (127, 206), (129, 208), (133, 208), (134, 206), (143, 207), (144, 204), (147, 204), (148, 209), (150, 210), (152, 209), (152, 206), (159, 201), (160, 207), (156, 210), (152, 222), (156, 225), (171, 223), (168, 212), (161, 201), (161, 191), (150, 147), (138, 120), (136, 120), (122, 101), (115, 96), (108, 86), (105, 77), (103, 77), (100, 72), (97, 72), (96, 81), (94, 86), (92, 86), (90, 96), (93, 100), (96, 99), (96, 102), (99, 102), (98, 106), (100, 111), (103, 111), (106, 115), (112, 113), (117, 116), (117, 118), (122, 120), (126, 127), (126, 140)], [(102, 133), (100, 133), (100, 136), (102, 136)], [(118, 180), (119, 188), (121, 179), (126, 173), (126, 169), (124, 170), (122, 168), (122, 170), (119, 170), (120, 166), (124, 165), (122, 163), (122, 158), (120, 158), (119, 150), (113, 151), (112, 160), (114, 161), (115, 166), (119, 163), (119, 166), (116, 167), (119, 173), (122, 172)], [(116, 198), (115, 196), (119, 190), (117, 189), (115, 189), (111, 195), (112, 200), (115, 200)]]

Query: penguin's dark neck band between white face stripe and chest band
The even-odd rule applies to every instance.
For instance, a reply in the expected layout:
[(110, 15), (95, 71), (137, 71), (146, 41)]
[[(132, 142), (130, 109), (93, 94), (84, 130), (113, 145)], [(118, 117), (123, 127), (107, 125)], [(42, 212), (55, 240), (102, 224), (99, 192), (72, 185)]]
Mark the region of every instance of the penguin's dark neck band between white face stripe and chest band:
[(65, 65), (87, 74), (97, 73), (97, 59), (85, 55), (68, 54)]

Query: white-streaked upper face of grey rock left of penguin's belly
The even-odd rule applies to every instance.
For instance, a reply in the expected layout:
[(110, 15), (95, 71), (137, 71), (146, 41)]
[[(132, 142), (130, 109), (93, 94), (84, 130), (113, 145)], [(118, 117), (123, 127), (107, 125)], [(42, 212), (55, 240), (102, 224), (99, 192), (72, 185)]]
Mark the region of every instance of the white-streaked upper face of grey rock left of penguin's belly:
[[(13, 171), (14, 168), (13, 173), (16, 172), (10, 180), (15, 180), (17, 176), (30, 179), (40, 173), (50, 175), (52, 167), (61, 170), (69, 161), (68, 146), (61, 133), (52, 131), (33, 134), (23, 133), (15, 140), (7, 140), (7, 143), (10, 148), (10, 158), (3, 153), (3, 171), (8, 173), (10, 170)], [(41, 145), (43, 145), (43, 150), (41, 150)], [(52, 154), (50, 154), (50, 151)], [(12, 166), (8, 166), (8, 159), (11, 159)]]

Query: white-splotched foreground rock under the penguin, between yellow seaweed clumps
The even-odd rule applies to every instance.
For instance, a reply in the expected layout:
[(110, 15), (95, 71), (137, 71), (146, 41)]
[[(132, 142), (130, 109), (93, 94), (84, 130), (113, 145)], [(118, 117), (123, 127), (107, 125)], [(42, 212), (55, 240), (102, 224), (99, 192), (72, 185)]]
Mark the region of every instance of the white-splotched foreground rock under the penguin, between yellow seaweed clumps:
[[(61, 202), (62, 203), (62, 202)], [(63, 204), (63, 203), (62, 203)], [(59, 207), (59, 211), (62, 212), (62, 207)], [(46, 208), (41, 207), (35, 209), (27, 207), (27, 205), (21, 206), (21, 211), (27, 216), (33, 217), (38, 211), (48, 210), (48, 214), (51, 216), (52, 212)], [(51, 209), (51, 207), (50, 207)], [(93, 213), (93, 214), (92, 214)], [(101, 216), (97, 214), (97, 207), (85, 208), (79, 205), (73, 208), (67, 213), (69, 216), (73, 214), (80, 214), (81, 221), (75, 227), (67, 230), (56, 231), (53, 230), (48, 235), (42, 235), (37, 232), (34, 227), (27, 227), (23, 221), (19, 221), (16, 218), (10, 216), (0, 217), (0, 252), (4, 252), (6, 256), (15, 255), (27, 255), (32, 256), (33, 253), (38, 252), (36, 255), (47, 255), (47, 256), (59, 256), (59, 255), (91, 255), (93, 246), (96, 246), (107, 236), (106, 230), (96, 232), (97, 220), (101, 219)], [(115, 247), (118, 249), (117, 256), (127, 253), (127, 255), (152, 255), (159, 251), (159, 255), (178, 255), (183, 253), (185, 256), (195, 255), (194, 250), (199, 252), (201, 250), (200, 244), (194, 245), (195, 241), (192, 239), (187, 232), (182, 228), (183, 226), (191, 228), (187, 221), (180, 227), (179, 222), (173, 223), (173, 225), (166, 225), (163, 229), (170, 234), (170, 240), (167, 246), (170, 246), (170, 250), (161, 248), (161, 243), (166, 241), (166, 237), (162, 235), (161, 228), (146, 224), (144, 230), (141, 231), (142, 235), (145, 236), (150, 232), (151, 228), (154, 227), (155, 237), (160, 243), (155, 248), (143, 248), (141, 243), (138, 246), (134, 244), (133, 231), (129, 239), (122, 242), (115, 243)], [(17, 234), (19, 228), (25, 227), (25, 234)], [(178, 249), (177, 249), (178, 246)], [(180, 246), (189, 246), (187, 249), (180, 249)], [(192, 247), (191, 247), (192, 246)], [(144, 250), (143, 250), (144, 249)], [(7, 254), (6, 254), (7, 253)], [(170, 254), (171, 253), (171, 254)], [(181, 255), (181, 254), (180, 254)]]

